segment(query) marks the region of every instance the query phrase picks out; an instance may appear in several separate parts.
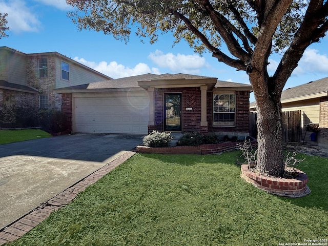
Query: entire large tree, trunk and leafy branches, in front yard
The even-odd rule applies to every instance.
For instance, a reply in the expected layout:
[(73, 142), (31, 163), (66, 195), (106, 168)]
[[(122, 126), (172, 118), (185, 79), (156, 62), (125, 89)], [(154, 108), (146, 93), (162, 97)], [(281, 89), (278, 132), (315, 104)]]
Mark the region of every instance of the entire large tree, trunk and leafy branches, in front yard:
[[(262, 172), (281, 175), (281, 92), (305, 49), (328, 29), (326, 0), (67, 0), (79, 29), (93, 29), (127, 42), (136, 35), (156, 42), (171, 32), (196, 52), (246, 71), (258, 111), (258, 160)], [(227, 49), (222, 49), (226, 46)], [(228, 50), (226, 52), (226, 50)], [(268, 59), (281, 53), (272, 76)]]

